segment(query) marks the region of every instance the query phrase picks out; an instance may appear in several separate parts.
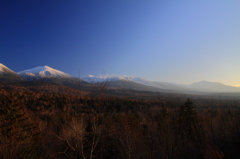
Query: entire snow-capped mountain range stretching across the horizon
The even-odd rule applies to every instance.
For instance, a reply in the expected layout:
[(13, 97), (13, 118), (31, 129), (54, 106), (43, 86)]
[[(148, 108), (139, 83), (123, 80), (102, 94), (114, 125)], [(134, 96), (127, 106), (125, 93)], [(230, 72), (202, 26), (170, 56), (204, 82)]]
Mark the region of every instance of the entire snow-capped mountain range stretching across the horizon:
[(49, 66), (39, 66), (32, 69), (20, 71), (18, 73), (0, 64), (0, 80), (3, 81), (45, 81), (63, 84), (71, 87), (76, 85), (98, 85), (108, 83), (109, 88), (129, 89), (152, 92), (169, 93), (193, 93), (200, 92), (221, 92), (221, 93), (240, 93), (240, 88), (224, 85), (217, 82), (200, 81), (190, 85), (181, 85), (168, 82), (148, 81), (139, 77), (132, 76), (93, 76), (89, 75), (83, 79), (71, 76), (62, 71), (53, 69)]

